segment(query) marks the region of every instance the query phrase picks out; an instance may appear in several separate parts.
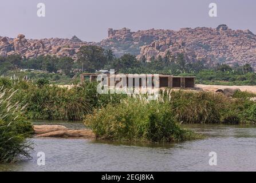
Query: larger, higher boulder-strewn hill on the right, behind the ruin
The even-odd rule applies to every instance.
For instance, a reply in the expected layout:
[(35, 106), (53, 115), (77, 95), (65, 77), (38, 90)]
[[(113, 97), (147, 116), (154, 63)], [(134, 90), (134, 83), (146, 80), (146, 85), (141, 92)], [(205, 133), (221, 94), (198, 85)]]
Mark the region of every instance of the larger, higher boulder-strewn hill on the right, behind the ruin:
[(216, 29), (197, 27), (178, 31), (109, 29), (108, 38), (99, 45), (117, 54), (139, 54), (137, 58), (144, 56), (148, 61), (167, 53), (174, 57), (183, 53), (188, 62), (204, 60), (208, 65), (250, 63), (256, 69), (256, 35), (250, 30), (229, 29), (227, 25), (219, 25)]

